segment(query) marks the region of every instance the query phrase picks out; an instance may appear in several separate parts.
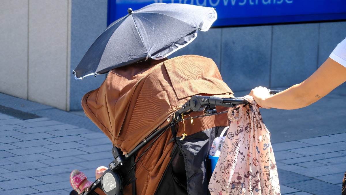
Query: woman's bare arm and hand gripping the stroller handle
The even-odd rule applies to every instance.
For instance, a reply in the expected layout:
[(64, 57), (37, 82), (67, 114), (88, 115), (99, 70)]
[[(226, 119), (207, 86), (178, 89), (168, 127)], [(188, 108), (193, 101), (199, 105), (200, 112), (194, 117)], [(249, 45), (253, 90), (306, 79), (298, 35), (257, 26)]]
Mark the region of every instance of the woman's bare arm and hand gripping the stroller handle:
[(265, 87), (254, 88), (249, 95), (263, 108), (298, 109), (306, 107), (346, 81), (346, 67), (328, 58), (302, 83), (270, 95)]

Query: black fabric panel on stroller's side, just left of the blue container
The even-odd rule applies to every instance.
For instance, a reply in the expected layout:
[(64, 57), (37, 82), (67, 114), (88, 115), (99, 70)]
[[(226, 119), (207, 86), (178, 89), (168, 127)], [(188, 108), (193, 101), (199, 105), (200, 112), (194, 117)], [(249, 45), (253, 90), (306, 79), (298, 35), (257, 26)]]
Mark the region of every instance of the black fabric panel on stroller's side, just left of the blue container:
[(222, 129), (224, 127), (207, 129), (185, 136), (183, 141), (179, 140), (181, 137), (176, 138), (185, 160), (189, 195), (210, 194), (208, 183), (211, 176), (211, 165), (208, 155), (215, 135), (220, 134)]

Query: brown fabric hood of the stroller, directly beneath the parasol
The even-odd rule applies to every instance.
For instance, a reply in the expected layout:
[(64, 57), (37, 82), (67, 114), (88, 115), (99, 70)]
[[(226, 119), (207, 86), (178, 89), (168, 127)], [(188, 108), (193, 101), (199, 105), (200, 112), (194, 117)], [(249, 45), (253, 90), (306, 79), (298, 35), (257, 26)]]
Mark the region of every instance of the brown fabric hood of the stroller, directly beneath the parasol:
[(121, 151), (130, 152), (189, 97), (233, 94), (216, 64), (201, 56), (147, 60), (113, 69), (84, 95), (88, 116)]

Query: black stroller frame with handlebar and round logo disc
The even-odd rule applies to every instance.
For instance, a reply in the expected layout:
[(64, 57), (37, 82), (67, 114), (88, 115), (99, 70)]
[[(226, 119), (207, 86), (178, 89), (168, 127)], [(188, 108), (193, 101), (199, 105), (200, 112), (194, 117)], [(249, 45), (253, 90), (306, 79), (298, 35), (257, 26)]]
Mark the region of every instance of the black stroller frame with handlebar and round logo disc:
[[(268, 91), (270, 94), (276, 94), (281, 92), (278, 90), (268, 90)], [(137, 161), (134, 162), (135, 154), (140, 149), (142, 149), (148, 142), (152, 141), (156, 137), (155, 140), (152, 142), (154, 143), (156, 139), (160, 137), (169, 128), (172, 129), (172, 134), (173, 134), (172, 140), (175, 141), (176, 132), (174, 127), (178, 122), (183, 120), (183, 115), (187, 115), (190, 112), (198, 112), (202, 110), (204, 110), (204, 115), (197, 116), (197, 117), (218, 115), (225, 112), (217, 113), (216, 106), (234, 108), (238, 104), (246, 105), (246, 104), (249, 104), (249, 102), (246, 101), (243, 97), (224, 98), (224, 97), (202, 96), (202, 95), (192, 96), (191, 99), (181, 107), (181, 109), (174, 112), (173, 114), (174, 119), (168, 125), (156, 130), (154, 133), (149, 135), (146, 139), (143, 139), (143, 141), (140, 142), (131, 152), (123, 155), (120, 153), (117, 147), (113, 147), (112, 154), (113, 154), (114, 160), (108, 165), (109, 170), (105, 171), (103, 176), (100, 179), (97, 179), (96, 181), (94, 181), (94, 183), (90, 186), (90, 189), (84, 192), (84, 195), (94, 195), (95, 194), (94, 190), (98, 187), (101, 188), (103, 192), (106, 193), (107, 195), (122, 195), (122, 190), (124, 185), (129, 185), (129, 184), (132, 184), (132, 192), (133, 192), (133, 195), (135, 195), (136, 178), (134, 174), (135, 172), (134, 167), (135, 167), (135, 164), (138, 162), (138, 160), (143, 156), (143, 154), (145, 154), (146, 151), (151, 147), (151, 145), (149, 145), (148, 148), (143, 152), (143, 154), (138, 157)], [(197, 117), (192, 117), (192, 118), (197, 118)], [(186, 118), (186, 119), (189, 119), (189, 118)], [(129, 170), (126, 170), (127, 174), (125, 173), (124, 175), (124, 171), (122, 171), (121, 173), (119, 169), (124, 165), (126, 161), (129, 161), (129, 160), (132, 167)], [(130, 181), (124, 184), (124, 178), (130, 179)]]

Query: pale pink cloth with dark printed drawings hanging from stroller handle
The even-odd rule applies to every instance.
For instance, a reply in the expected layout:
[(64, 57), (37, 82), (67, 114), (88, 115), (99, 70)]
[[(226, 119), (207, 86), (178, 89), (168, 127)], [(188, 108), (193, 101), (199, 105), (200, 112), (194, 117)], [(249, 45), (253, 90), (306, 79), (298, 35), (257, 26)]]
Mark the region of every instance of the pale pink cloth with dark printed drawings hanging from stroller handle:
[(208, 189), (212, 195), (280, 195), (270, 133), (252, 96), (230, 109), (231, 121)]

